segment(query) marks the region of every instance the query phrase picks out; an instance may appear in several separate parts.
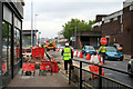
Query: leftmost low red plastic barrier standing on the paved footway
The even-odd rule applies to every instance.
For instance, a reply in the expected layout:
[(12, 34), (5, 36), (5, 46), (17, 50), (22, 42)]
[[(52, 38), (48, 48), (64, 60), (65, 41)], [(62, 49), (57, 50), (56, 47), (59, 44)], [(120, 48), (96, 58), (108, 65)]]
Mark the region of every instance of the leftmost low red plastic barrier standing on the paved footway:
[(23, 62), (22, 71), (34, 71), (35, 65), (30, 62)]

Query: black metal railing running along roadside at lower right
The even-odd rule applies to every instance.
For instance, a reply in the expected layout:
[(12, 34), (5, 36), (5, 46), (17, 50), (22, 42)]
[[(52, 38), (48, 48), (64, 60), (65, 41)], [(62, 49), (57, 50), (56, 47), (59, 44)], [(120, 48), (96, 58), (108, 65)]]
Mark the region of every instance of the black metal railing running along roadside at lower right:
[[(116, 79), (112, 79), (109, 77), (105, 77), (103, 73), (103, 69), (108, 69), (109, 71), (113, 71), (115, 73), (122, 73), (122, 75), (131, 75), (122, 70), (113, 69), (106, 66), (100, 66), (96, 63), (83, 61), (83, 60), (76, 60), (73, 59), (76, 66), (70, 65), (69, 69), (69, 83), (74, 85), (75, 87), (80, 89), (88, 89), (88, 88), (94, 88), (94, 89), (106, 89), (106, 88), (116, 88), (116, 89), (133, 89), (132, 86), (126, 85), (122, 81), (119, 81)], [(98, 72), (88, 70), (88, 68), (84, 68), (85, 66), (89, 67), (89, 65), (96, 67), (99, 70)], [(94, 70), (94, 69), (92, 69)], [(115, 75), (113, 73), (113, 75)]]

